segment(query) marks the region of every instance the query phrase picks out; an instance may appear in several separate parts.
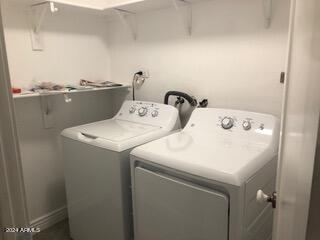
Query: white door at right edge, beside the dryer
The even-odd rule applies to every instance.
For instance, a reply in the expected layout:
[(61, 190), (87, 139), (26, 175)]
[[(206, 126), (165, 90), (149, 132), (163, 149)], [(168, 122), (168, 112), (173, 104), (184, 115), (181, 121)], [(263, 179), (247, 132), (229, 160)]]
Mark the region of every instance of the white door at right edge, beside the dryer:
[(273, 240), (306, 239), (319, 122), (320, 1), (291, 4)]

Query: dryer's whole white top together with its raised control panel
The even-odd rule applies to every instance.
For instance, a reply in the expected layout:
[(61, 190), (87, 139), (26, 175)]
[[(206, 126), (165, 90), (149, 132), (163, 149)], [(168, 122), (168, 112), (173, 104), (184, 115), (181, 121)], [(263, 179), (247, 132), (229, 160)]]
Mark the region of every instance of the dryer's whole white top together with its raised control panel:
[[(231, 129), (221, 127), (233, 118)], [(242, 123), (250, 121), (251, 128)], [(140, 146), (132, 151), (145, 159), (193, 175), (240, 186), (275, 159), (278, 146), (275, 117), (227, 109), (196, 109), (180, 133)]]

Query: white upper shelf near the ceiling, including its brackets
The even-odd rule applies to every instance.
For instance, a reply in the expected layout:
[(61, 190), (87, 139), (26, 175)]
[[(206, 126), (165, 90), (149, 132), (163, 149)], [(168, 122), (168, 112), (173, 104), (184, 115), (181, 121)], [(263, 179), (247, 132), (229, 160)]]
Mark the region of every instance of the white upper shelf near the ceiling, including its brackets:
[[(48, 9), (56, 13), (59, 9), (73, 8), (102, 14), (105, 17), (119, 17), (125, 27), (131, 29), (132, 36), (137, 39), (136, 14), (166, 8), (175, 8), (185, 23), (187, 33), (192, 34), (192, 5), (210, 0), (28, 0), (31, 4), (32, 48), (42, 51), (40, 36), (41, 27)], [(212, 1), (212, 0), (211, 0)], [(269, 28), (272, 21), (272, 1), (262, 0), (265, 27)], [(49, 8), (48, 8), (49, 6)]]

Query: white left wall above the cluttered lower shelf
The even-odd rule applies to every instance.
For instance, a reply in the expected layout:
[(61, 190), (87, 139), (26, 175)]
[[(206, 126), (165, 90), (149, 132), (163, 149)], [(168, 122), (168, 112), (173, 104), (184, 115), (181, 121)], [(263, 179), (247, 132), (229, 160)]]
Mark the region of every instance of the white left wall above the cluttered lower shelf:
[[(29, 87), (35, 81), (76, 84), (81, 78), (110, 79), (110, 55), (101, 17), (61, 9), (45, 17), (44, 51), (32, 51), (27, 6), (2, 0), (11, 81)], [(22, 1), (20, 1), (22, 2)]]

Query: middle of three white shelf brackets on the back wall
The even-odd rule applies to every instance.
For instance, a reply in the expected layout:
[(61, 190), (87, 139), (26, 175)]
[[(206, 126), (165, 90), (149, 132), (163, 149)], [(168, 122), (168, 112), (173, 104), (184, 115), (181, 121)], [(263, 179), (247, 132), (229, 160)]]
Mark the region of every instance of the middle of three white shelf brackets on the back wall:
[[(180, 18), (182, 19), (188, 35), (192, 34), (192, 4), (186, 0), (172, 0), (174, 8), (179, 13)], [(185, 11), (183, 11), (185, 10)]]

